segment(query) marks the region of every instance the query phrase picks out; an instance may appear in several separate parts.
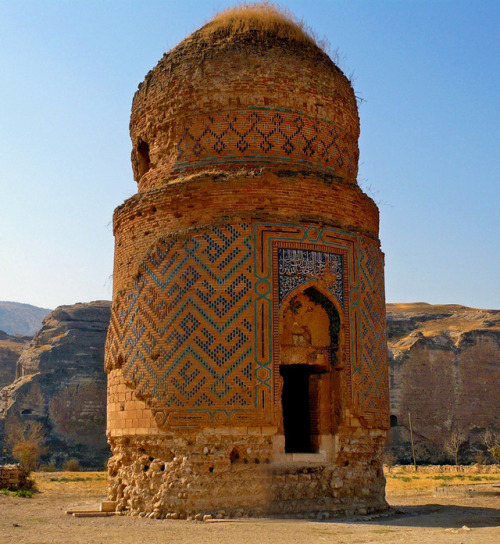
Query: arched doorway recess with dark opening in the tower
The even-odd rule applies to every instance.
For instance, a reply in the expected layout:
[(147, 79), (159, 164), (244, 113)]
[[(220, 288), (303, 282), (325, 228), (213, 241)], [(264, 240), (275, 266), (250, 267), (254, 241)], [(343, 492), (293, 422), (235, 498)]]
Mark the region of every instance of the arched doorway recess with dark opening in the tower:
[(282, 429), (286, 453), (315, 453), (332, 434), (340, 316), (315, 287), (288, 298), (280, 316)]

